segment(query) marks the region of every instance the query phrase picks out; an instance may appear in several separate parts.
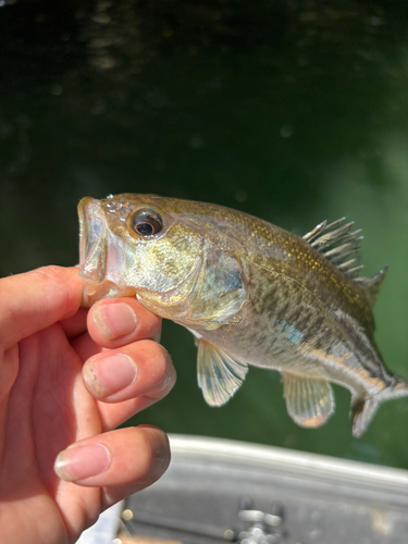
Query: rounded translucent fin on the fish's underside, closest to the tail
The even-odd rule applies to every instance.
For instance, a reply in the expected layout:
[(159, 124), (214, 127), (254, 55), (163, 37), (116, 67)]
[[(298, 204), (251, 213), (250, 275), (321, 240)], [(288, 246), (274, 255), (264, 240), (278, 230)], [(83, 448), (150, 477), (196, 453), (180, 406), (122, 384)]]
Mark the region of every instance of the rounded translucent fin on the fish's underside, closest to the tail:
[(301, 426), (320, 426), (334, 410), (330, 383), (282, 372), (283, 394), (290, 418)]

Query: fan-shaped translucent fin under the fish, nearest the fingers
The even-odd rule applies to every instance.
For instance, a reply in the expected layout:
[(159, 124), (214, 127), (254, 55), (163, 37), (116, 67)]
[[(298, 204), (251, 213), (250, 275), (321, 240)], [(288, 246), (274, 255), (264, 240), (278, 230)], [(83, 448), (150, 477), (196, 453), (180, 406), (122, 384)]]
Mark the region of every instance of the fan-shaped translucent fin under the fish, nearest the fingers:
[(198, 386), (210, 406), (224, 405), (240, 387), (248, 366), (233, 359), (221, 348), (200, 338), (198, 341)]

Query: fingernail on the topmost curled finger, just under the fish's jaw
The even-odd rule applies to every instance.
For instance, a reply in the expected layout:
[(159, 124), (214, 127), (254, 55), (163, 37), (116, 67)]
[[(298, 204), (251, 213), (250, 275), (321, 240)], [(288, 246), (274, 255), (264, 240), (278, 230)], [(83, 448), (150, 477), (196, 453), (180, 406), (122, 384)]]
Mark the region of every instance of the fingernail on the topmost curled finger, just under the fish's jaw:
[(124, 302), (95, 306), (92, 318), (99, 332), (109, 341), (131, 334), (137, 325), (135, 312)]

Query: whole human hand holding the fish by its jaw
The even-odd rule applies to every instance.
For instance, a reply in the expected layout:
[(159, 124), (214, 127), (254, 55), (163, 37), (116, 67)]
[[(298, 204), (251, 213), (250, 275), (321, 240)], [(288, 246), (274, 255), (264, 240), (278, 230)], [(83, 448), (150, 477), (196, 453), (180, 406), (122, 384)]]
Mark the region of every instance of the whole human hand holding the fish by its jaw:
[(159, 429), (113, 431), (175, 382), (161, 320), (134, 298), (81, 300), (76, 269), (0, 280), (2, 544), (73, 543), (169, 466)]

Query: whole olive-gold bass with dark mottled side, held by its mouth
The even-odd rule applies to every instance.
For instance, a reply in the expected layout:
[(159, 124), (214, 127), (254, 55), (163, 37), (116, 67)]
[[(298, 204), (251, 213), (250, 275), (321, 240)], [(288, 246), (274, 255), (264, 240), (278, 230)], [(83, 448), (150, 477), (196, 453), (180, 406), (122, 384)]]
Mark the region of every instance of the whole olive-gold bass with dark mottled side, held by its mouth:
[(84, 306), (135, 296), (188, 329), (208, 405), (224, 405), (249, 366), (276, 370), (297, 424), (326, 422), (335, 383), (361, 436), (382, 401), (408, 395), (373, 337), (387, 267), (360, 277), (362, 237), (345, 218), (300, 237), (222, 206), (136, 194), (85, 197), (78, 214)]

